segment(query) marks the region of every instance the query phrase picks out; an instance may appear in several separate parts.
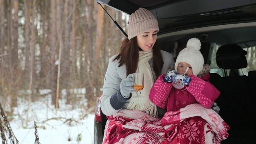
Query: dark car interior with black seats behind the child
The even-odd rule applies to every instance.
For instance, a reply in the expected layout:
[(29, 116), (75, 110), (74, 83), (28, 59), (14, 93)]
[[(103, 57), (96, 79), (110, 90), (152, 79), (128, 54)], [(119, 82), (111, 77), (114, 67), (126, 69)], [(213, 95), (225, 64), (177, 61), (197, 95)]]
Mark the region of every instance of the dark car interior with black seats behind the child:
[(256, 23), (231, 25), (163, 34), (158, 36), (158, 42), (176, 58), (189, 38), (199, 38), (205, 64), (211, 64), (213, 47), (219, 46), (214, 59), (224, 74), (210, 73), (210, 82), (220, 91), (215, 101), (220, 107), (219, 114), (231, 127), (230, 136), (222, 144), (252, 144), (256, 142), (256, 69), (246, 75), (240, 70), (248, 66), (244, 49), (256, 46)]

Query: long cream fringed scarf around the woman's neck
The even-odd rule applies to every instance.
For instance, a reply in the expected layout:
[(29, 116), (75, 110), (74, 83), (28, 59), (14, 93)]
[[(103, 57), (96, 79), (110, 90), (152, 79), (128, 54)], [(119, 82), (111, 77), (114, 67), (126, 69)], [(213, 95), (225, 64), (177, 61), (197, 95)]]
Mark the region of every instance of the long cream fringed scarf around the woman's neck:
[(133, 96), (136, 95), (136, 92), (132, 93), (132, 98), (127, 106), (127, 109), (132, 110), (140, 110), (157, 118), (157, 107), (156, 105), (150, 101), (149, 99), (149, 92), (154, 84), (154, 79), (152, 75), (152, 71), (148, 61), (153, 59), (153, 52), (139, 52), (139, 62), (138, 68), (136, 72), (144, 73), (144, 88), (141, 90), (141, 95), (145, 97), (134, 98)]

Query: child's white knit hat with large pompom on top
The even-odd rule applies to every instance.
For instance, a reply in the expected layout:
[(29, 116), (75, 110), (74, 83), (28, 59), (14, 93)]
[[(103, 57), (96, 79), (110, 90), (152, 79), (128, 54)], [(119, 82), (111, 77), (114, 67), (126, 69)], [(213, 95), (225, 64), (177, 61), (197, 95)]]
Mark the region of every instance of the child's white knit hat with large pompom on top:
[(175, 70), (178, 71), (178, 64), (186, 62), (192, 67), (194, 75), (198, 75), (204, 67), (204, 57), (199, 51), (201, 49), (201, 42), (198, 38), (191, 38), (188, 40), (187, 47), (180, 51), (176, 62)]

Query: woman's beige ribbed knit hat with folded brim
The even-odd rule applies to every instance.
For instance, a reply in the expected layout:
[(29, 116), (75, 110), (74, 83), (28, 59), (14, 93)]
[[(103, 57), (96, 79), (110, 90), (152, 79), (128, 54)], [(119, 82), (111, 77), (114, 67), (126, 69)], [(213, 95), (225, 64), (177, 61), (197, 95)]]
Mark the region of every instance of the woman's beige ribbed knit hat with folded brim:
[(139, 8), (136, 12), (132, 13), (129, 18), (128, 39), (130, 40), (148, 30), (157, 30), (158, 32), (158, 22), (149, 10)]

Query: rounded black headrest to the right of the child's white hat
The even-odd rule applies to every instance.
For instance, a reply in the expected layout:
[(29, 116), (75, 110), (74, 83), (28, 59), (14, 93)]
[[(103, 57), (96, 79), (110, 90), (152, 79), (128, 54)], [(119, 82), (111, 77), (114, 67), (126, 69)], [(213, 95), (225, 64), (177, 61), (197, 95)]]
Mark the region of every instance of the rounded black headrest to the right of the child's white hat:
[(247, 67), (247, 52), (241, 46), (228, 44), (221, 46), (216, 52), (216, 63), (218, 67), (227, 69), (239, 69)]

